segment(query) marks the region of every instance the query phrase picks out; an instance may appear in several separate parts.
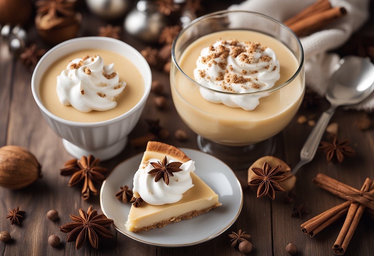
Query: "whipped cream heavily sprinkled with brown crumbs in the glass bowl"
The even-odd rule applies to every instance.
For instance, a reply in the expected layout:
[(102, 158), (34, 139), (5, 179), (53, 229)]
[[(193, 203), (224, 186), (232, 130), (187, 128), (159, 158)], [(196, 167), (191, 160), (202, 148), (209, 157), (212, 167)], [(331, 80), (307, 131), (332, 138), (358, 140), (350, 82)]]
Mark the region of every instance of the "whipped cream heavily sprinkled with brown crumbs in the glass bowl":
[(202, 49), (193, 71), (196, 82), (221, 94), (200, 87), (205, 100), (223, 103), (229, 107), (253, 110), (259, 99), (268, 94), (240, 95), (272, 88), (280, 78), (279, 61), (275, 52), (260, 43), (217, 41)]

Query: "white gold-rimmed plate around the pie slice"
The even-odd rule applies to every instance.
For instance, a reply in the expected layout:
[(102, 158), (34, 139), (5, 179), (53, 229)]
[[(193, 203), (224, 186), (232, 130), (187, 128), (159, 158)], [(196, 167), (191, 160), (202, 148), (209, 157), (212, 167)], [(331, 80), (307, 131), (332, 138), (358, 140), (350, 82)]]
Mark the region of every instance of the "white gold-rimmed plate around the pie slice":
[(140, 153), (117, 165), (101, 186), (101, 210), (109, 219), (114, 220), (113, 225), (120, 233), (153, 246), (191, 246), (217, 237), (235, 222), (242, 210), (243, 191), (234, 172), (214, 156), (193, 149), (181, 150), (195, 161), (195, 173), (218, 194), (222, 205), (208, 213), (171, 223), (163, 228), (144, 232), (126, 230), (125, 223), (131, 204), (120, 202), (114, 195), (120, 186), (128, 185), (132, 188), (134, 174), (143, 156)]

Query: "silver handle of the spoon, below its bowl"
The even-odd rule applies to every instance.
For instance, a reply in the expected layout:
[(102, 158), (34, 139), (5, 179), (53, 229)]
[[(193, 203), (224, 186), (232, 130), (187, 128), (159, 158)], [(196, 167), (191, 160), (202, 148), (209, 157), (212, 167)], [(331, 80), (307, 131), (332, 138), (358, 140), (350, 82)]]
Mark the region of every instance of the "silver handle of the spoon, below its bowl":
[(313, 157), (316, 155), (322, 135), (324, 134), (332, 115), (334, 115), (336, 108), (337, 106), (332, 105), (328, 110), (322, 113), (301, 149), (300, 162), (292, 170), (292, 174), (295, 175), (301, 166), (312, 161)]

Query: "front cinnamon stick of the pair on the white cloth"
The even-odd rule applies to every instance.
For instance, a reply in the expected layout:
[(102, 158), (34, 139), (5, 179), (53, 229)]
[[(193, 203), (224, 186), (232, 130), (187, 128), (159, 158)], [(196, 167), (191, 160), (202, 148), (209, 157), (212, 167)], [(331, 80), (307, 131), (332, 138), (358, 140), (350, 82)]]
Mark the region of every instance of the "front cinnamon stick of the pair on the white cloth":
[(297, 36), (305, 36), (346, 14), (347, 10), (344, 7), (334, 7), (300, 19), (290, 24), (289, 28), (294, 31)]

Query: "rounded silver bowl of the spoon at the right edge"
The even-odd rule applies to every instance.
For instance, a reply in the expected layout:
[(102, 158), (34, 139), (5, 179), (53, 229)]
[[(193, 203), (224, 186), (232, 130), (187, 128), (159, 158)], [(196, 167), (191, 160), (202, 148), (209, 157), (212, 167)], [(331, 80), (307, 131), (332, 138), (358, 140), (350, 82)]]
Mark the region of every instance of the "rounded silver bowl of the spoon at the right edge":
[(332, 75), (326, 98), (335, 106), (354, 105), (367, 98), (373, 90), (373, 63), (365, 58), (350, 56)]

